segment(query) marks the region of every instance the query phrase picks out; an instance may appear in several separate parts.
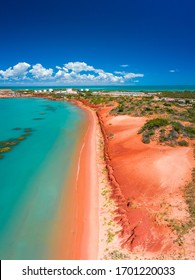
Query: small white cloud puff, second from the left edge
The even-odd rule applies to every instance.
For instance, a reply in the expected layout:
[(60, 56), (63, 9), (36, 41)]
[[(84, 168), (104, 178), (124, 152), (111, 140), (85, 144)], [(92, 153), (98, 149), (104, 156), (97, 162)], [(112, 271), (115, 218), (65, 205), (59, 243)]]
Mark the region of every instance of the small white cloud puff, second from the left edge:
[(46, 69), (40, 63), (37, 63), (32, 66), (29, 73), (31, 73), (35, 79), (49, 80), (52, 79), (53, 69)]

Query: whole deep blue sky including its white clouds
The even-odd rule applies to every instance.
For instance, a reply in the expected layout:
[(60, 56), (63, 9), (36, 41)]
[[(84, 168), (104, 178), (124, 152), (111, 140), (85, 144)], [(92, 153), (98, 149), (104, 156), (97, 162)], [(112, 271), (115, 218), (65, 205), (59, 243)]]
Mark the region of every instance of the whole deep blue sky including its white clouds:
[(0, 85), (195, 85), (194, 0), (1, 1)]

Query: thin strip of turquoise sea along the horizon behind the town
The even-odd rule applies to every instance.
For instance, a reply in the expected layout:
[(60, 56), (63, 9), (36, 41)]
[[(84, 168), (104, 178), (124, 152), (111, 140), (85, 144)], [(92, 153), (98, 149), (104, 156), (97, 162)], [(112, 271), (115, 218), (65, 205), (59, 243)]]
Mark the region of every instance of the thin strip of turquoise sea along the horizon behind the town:
[(30, 89), (30, 90), (35, 90), (35, 89), (49, 89), (49, 88), (76, 88), (76, 89), (85, 89), (88, 88), (90, 90), (128, 90), (128, 91), (184, 91), (184, 90), (191, 90), (195, 91), (195, 85), (151, 85), (151, 86), (7, 86), (3, 87), (1, 86), (0, 88), (11, 88), (13, 90), (19, 90), (19, 89)]

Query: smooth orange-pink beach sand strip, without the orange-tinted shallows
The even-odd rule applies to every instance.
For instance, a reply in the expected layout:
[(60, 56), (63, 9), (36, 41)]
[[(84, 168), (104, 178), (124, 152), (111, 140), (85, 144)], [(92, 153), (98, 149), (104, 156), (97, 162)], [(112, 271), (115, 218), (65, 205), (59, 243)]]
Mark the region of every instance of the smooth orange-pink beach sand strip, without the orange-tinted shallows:
[[(81, 103), (76, 104), (85, 111), (88, 127), (79, 154), (77, 166), (77, 236), (74, 259), (97, 259), (99, 222), (98, 222), (98, 179), (96, 154), (96, 114)], [(78, 230), (79, 227), (79, 230)], [(80, 247), (80, 250), (78, 248)]]

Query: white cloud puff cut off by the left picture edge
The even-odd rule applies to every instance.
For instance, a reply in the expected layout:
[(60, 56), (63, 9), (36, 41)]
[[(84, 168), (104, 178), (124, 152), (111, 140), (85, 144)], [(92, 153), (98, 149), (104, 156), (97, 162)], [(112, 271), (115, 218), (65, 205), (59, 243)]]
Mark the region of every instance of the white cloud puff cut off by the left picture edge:
[(25, 79), (27, 75), (27, 69), (30, 67), (30, 64), (26, 62), (19, 62), (13, 67), (9, 67), (5, 71), (0, 70), (0, 77), (2, 80), (8, 79)]

